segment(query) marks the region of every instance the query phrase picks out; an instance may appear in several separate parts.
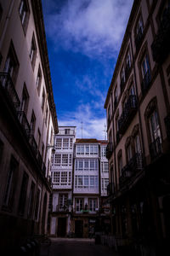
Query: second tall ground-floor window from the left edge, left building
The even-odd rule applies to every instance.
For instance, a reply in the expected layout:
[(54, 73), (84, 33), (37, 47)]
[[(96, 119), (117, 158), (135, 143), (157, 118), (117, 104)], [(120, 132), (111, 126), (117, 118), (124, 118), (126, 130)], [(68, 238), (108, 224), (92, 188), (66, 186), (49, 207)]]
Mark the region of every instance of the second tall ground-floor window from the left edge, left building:
[(28, 174), (24, 172), (22, 177), (22, 184), (20, 189), (20, 201), (19, 201), (19, 207), (18, 207), (18, 212), (20, 213), (20, 215), (24, 215), (24, 212), (25, 212), (27, 186), (28, 186)]

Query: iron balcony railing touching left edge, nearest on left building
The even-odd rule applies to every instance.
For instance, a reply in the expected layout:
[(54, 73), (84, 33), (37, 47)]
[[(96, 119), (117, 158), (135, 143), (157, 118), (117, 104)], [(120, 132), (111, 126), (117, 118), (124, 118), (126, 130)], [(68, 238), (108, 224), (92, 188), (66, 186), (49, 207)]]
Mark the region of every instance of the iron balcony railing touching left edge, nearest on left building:
[(8, 99), (10, 102), (12, 102), (14, 109), (19, 111), (20, 99), (16, 90), (14, 89), (13, 81), (8, 73), (0, 73), (0, 85), (6, 91)]

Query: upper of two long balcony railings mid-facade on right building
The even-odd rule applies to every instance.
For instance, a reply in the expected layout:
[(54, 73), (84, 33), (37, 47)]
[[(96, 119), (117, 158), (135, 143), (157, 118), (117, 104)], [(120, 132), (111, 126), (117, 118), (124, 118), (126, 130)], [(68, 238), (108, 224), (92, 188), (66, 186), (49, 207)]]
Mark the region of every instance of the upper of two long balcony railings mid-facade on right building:
[(123, 134), (127, 126), (129, 125), (131, 119), (133, 118), (134, 113), (137, 110), (137, 97), (135, 95), (130, 95), (128, 97), (127, 103), (122, 110), (122, 115), (118, 120), (119, 132)]

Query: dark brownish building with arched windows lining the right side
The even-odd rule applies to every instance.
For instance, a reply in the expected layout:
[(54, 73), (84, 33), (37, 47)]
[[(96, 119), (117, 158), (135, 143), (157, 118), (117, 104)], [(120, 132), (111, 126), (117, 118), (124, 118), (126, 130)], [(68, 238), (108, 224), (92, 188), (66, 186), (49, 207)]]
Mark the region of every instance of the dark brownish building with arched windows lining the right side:
[(105, 100), (112, 236), (137, 255), (169, 252), (169, 14), (134, 1)]

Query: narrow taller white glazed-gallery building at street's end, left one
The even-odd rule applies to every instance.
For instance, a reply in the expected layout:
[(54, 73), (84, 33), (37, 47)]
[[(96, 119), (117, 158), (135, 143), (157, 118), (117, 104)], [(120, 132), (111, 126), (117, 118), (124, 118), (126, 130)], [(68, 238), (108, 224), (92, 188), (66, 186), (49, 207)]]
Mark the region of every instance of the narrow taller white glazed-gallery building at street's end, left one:
[(55, 135), (51, 172), (53, 183), (50, 236), (65, 237), (71, 233), (73, 147), (75, 126), (59, 126)]

